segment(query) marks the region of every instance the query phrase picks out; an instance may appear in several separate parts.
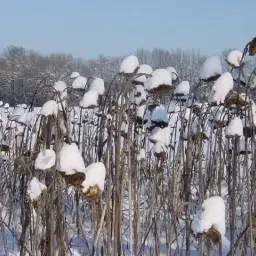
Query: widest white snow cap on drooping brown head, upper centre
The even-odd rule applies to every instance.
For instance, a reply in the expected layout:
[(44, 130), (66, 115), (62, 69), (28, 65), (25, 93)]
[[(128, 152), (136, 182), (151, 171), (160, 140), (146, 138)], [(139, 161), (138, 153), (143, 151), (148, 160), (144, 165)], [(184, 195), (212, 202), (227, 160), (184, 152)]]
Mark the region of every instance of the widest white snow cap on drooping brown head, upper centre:
[(156, 69), (152, 72), (152, 76), (145, 82), (145, 88), (150, 91), (160, 85), (172, 86), (172, 75), (166, 69)]

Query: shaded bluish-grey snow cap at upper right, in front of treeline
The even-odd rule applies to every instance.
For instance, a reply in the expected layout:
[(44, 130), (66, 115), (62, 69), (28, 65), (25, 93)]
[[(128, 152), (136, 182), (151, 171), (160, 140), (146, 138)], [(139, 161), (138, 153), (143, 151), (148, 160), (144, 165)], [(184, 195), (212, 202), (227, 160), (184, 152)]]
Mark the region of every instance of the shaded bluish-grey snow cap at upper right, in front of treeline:
[(212, 56), (205, 60), (200, 71), (200, 79), (207, 80), (223, 73), (220, 56)]

